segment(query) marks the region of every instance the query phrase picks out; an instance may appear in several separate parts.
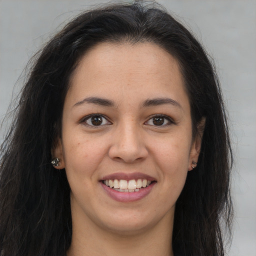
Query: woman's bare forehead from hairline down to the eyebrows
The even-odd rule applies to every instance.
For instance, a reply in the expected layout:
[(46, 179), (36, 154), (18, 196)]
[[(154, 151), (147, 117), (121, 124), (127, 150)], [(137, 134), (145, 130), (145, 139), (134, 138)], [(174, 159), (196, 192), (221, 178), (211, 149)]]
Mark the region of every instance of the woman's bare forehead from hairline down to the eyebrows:
[(121, 100), (142, 96), (187, 100), (178, 61), (156, 44), (100, 43), (82, 56), (67, 97)]

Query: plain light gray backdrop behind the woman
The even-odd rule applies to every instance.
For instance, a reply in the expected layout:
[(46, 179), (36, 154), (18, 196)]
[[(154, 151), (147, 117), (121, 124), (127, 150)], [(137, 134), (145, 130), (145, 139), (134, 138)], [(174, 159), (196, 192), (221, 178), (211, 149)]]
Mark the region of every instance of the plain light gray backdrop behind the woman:
[[(0, 0), (0, 118), (22, 70), (61, 22), (105, 0)], [(256, 1), (159, 0), (216, 61), (229, 111), (235, 166), (233, 242), (227, 255), (256, 256)], [(20, 79), (18, 79), (20, 77)], [(13, 86), (15, 88), (13, 90)], [(0, 139), (3, 131), (0, 133)], [(206, 255), (205, 255), (206, 256)]]

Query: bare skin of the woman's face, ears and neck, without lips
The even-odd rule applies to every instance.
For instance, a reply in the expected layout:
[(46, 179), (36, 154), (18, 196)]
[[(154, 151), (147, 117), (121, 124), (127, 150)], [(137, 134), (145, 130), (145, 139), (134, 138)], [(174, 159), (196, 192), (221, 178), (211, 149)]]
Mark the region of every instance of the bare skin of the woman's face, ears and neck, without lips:
[[(88, 97), (113, 105), (85, 102)], [(143, 105), (166, 97), (172, 103)], [(91, 124), (93, 113), (104, 117), (102, 125)], [(169, 120), (155, 125), (155, 115)], [(71, 78), (62, 136), (52, 150), (71, 188), (67, 255), (173, 255), (175, 202), (200, 142), (192, 137), (182, 75), (169, 53), (151, 43), (100, 43), (90, 49)], [(116, 201), (100, 184), (104, 175), (138, 171), (157, 182), (137, 201)]]

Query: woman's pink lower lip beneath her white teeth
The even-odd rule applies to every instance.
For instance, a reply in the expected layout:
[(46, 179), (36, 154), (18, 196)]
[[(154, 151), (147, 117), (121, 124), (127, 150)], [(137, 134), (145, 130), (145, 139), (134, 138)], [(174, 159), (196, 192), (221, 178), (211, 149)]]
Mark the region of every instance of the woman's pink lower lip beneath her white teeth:
[(101, 186), (106, 191), (106, 193), (112, 199), (120, 202), (133, 202), (142, 199), (143, 197), (150, 193), (155, 183), (156, 182), (152, 182), (149, 186), (145, 188), (140, 188), (139, 191), (137, 192), (119, 192), (100, 182)]

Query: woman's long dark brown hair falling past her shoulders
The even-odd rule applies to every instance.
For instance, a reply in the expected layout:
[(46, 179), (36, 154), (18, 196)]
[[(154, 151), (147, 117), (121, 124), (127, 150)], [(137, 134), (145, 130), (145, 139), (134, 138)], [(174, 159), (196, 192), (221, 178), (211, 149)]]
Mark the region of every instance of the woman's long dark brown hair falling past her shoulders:
[[(197, 167), (176, 202), (174, 255), (223, 256), (230, 231), (231, 148), (214, 65), (194, 36), (161, 6), (107, 5), (81, 13), (37, 53), (0, 158), (0, 255), (65, 255), (72, 226), (64, 170), (50, 164), (61, 136), (70, 76), (80, 57), (100, 42), (151, 42), (174, 56), (189, 96), (194, 135), (205, 117)], [(167, 54), (167, 53), (166, 53)]]

